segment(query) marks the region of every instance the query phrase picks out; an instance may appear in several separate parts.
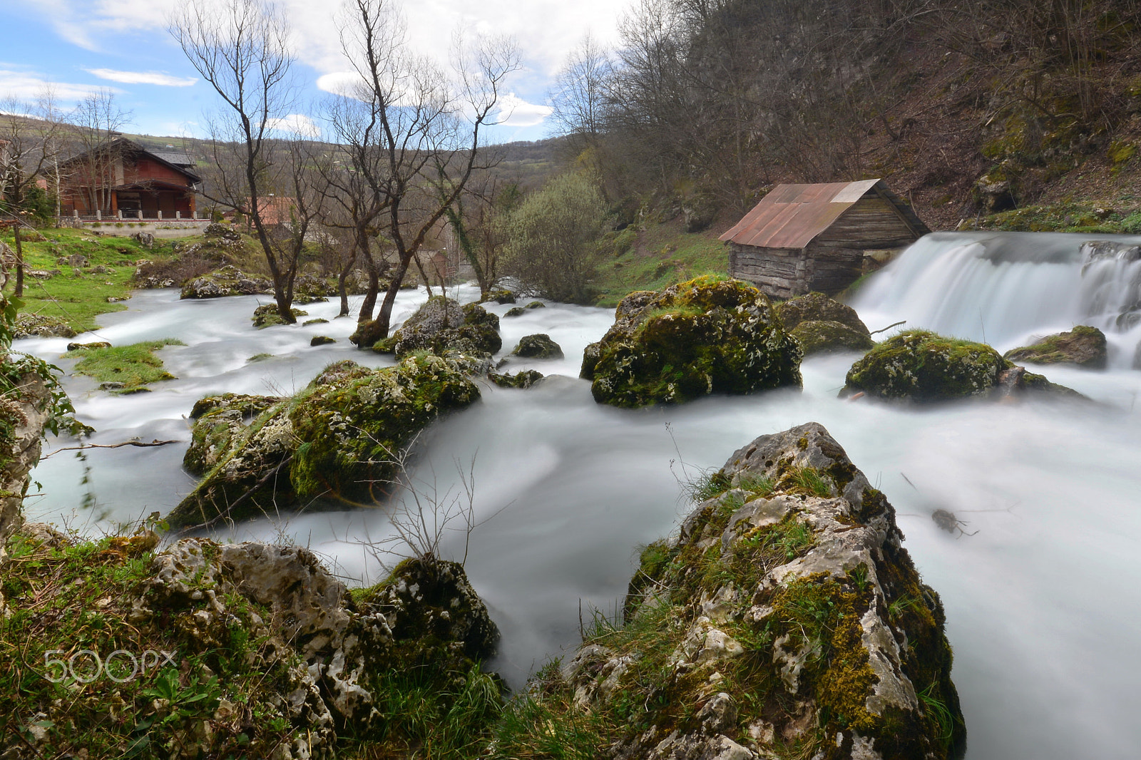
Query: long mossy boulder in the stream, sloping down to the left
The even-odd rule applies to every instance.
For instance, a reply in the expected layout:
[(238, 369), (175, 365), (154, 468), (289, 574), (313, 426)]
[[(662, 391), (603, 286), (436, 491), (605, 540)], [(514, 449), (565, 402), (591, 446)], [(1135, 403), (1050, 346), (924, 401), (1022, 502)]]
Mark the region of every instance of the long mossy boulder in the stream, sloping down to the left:
[(168, 520), (193, 526), (315, 500), (374, 502), (391, 490), (398, 454), (416, 434), (479, 398), (466, 369), (431, 354), (379, 370), (338, 362), (252, 418), (233, 405), (203, 414), (192, 450), (205, 475)]

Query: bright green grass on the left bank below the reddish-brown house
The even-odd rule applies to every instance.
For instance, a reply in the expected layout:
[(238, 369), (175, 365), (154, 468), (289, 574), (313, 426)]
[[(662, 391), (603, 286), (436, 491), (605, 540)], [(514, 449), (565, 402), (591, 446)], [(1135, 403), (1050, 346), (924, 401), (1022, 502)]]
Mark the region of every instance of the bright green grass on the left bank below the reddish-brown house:
[[(22, 244), (26, 267), (47, 272), (58, 269), (59, 274), (48, 280), (25, 274), (24, 307), (21, 312), (60, 317), (76, 333), (95, 330), (95, 317), (98, 315), (127, 308), (123, 304), (108, 302), (107, 299), (130, 297), (136, 261), (160, 260), (172, 256), (170, 242), (162, 240), (155, 240), (154, 248), (147, 250), (130, 237), (96, 236), (84, 229), (43, 229), (40, 234), (46, 240)], [(11, 235), (2, 240), (15, 250)], [(75, 274), (68, 262), (60, 262), (60, 259), (76, 253), (88, 260), (88, 266), (82, 267), (79, 274)], [(108, 270), (94, 272), (100, 266)], [(11, 292), (15, 283), (13, 275), (8, 292)]]

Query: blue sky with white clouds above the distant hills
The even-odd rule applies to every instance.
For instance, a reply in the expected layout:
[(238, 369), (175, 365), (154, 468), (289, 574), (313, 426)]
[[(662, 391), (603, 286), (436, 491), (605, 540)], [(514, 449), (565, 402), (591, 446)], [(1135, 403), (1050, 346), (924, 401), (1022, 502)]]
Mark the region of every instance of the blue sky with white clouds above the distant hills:
[[(221, 5), (226, 0), (199, 0)], [(493, 142), (535, 140), (551, 132), (548, 91), (567, 55), (589, 33), (617, 42), (617, 25), (632, 0), (413, 0), (404, 3), (410, 46), (448, 60), (453, 35), (507, 34), (520, 68), (507, 84), (509, 107), (489, 130)], [(199, 76), (167, 31), (179, 0), (0, 0), (0, 99), (34, 99), (50, 83), (60, 104), (111, 90), (130, 112), (124, 131), (204, 137), (204, 115), (217, 110), (212, 88)], [(326, 90), (343, 81), (335, 11), (339, 0), (278, 0), (293, 30), (298, 114), (280, 127), (319, 128)]]

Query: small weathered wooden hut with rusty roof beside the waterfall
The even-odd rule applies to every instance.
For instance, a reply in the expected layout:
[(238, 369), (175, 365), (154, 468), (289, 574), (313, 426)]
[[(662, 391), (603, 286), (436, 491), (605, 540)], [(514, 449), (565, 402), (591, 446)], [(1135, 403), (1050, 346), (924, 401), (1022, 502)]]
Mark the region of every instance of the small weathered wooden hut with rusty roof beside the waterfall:
[(721, 240), (729, 276), (774, 298), (835, 293), (930, 233), (882, 179), (777, 185)]

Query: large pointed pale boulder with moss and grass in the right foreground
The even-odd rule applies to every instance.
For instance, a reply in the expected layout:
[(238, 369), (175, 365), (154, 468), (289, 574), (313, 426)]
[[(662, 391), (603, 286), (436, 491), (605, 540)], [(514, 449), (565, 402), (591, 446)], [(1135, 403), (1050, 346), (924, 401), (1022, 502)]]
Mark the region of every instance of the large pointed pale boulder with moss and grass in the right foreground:
[(699, 491), (641, 552), (623, 622), (541, 671), (534, 730), (598, 721), (609, 758), (957, 757), (939, 595), (840, 444), (815, 422), (761, 436)]

